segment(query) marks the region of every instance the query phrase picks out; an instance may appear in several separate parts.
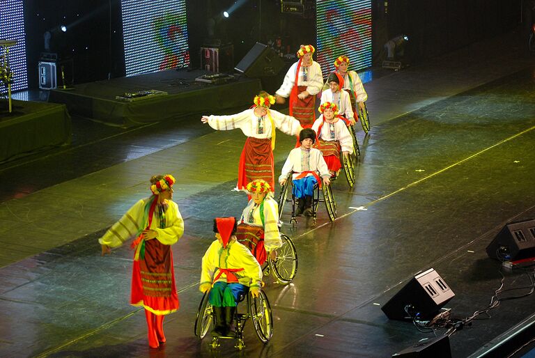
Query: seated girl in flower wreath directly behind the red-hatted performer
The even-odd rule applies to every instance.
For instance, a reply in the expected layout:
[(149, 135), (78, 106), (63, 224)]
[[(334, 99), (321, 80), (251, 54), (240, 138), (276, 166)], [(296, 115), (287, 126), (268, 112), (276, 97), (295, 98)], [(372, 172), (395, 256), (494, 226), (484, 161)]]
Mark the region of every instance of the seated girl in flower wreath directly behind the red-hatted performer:
[(247, 192), (251, 200), (242, 212), (236, 237), (249, 247), (260, 265), (267, 255), (276, 258), (276, 249), (282, 246), (279, 233), (279, 204), (273, 199), (273, 190), (262, 179), (249, 182)]

